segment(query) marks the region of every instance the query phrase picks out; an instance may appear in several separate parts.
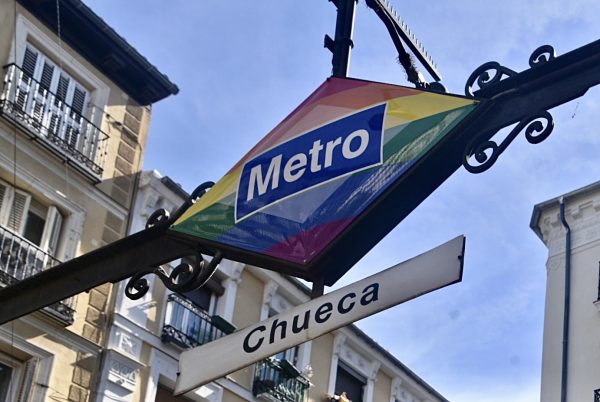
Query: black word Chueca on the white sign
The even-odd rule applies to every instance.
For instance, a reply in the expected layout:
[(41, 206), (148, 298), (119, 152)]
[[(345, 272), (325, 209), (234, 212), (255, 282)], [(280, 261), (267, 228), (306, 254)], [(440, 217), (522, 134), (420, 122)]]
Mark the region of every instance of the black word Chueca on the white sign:
[(256, 352), (264, 342), (276, 343), (278, 340), (285, 339), (288, 334), (308, 331), (311, 323), (312, 325), (325, 324), (330, 319), (339, 319), (339, 316), (348, 314), (354, 308), (367, 306), (377, 300), (379, 300), (379, 283), (375, 282), (366, 286), (360, 295), (349, 292), (340, 297), (337, 302), (324, 302), (314, 310), (306, 309), (293, 317), (281, 318), (281, 320), (275, 318), (269, 328), (266, 325), (257, 325), (248, 332), (242, 347), (246, 353)]

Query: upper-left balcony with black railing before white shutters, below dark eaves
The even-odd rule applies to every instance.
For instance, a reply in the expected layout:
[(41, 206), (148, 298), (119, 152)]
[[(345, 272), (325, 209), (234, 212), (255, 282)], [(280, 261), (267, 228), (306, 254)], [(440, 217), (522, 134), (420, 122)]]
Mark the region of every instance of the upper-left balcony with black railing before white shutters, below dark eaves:
[(15, 64), (5, 66), (5, 71), (0, 114), (92, 181), (99, 182), (108, 135)]

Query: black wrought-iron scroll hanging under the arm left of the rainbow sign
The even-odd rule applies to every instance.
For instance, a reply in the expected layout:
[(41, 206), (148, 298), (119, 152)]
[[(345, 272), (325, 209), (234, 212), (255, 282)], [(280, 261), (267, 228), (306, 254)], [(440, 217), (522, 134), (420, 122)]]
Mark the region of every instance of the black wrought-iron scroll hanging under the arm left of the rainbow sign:
[(206, 262), (202, 254), (194, 256), (193, 264), (181, 263), (167, 273), (162, 267), (148, 268), (133, 275), (125, 287), (125, 295), (131, 300), (144, 297), (150, 285), (144, 276), (154, 274), (161, 280), (165, 287), (174, 292), (189, 292), (206, 284), (217, 271), (217, 266), (223, 259), (223, 253), (219, 250), (210, 262)]

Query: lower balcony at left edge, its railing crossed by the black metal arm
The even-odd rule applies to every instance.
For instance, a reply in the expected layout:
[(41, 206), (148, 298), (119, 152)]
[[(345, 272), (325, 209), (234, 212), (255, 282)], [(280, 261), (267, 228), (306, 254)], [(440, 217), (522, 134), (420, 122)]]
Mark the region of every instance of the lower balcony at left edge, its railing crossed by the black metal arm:
[[(60, 264), (27, 239), (0, 226), (0, 286), (8, 286)], [(75, 298), (54, 303), (44, 308), (51, 318), (64, 325), (73, 323)]]

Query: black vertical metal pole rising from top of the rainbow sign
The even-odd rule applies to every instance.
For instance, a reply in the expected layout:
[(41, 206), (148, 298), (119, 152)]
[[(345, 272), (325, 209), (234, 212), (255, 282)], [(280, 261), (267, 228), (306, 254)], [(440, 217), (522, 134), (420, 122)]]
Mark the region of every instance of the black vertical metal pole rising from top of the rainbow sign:
[[(347, 77), (350, 66), (350, 50), (352, 49), (352, 30), (357, 0), (336, 0), (337, 19), (335, 23), (335, 40), (330, 50), (333, 52), (332, 74), (334, 77)], [(327, 39), (326, 39), (327, 41)], [(327, 46), (329, 47), (329, 46)]]

